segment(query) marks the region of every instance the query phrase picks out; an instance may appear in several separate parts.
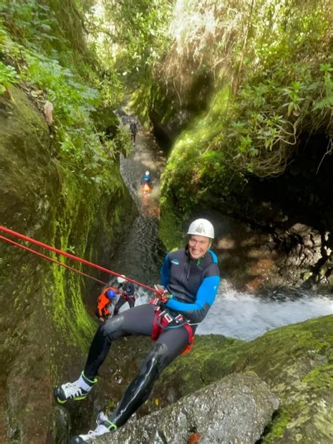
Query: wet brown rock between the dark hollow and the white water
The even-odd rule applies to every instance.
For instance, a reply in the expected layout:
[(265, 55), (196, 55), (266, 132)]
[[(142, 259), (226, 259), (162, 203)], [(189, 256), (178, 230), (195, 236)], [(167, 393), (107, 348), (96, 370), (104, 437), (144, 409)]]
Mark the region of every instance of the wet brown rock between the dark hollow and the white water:
[(217, 233), (214, 250), (236, 288), (256, 292), (286, 286), (332, 287), (332, 233), (288, 218), (282, 221), (284, 216), (275, 208), (266, 214), (268, 222), (261, 214), (245, 223), (209, 211), (207, 218)]

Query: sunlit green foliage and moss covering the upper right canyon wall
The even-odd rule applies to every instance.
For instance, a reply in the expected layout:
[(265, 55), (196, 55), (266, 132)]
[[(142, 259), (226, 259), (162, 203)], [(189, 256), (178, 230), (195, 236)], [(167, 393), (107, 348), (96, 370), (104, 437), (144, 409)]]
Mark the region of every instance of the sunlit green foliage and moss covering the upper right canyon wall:
[(251, 174), (282, 174), (301, 133), (332, 128), (330, 2), (251, 4), (176, 2), (174, 41), (159, 63), (169, 98), (179, 95), (173, 106), (188, 100), (195, 70), (215, 79), (207, 110), (181, 133), (163, 176), (162, 195), (182, 214), (230, 196)]

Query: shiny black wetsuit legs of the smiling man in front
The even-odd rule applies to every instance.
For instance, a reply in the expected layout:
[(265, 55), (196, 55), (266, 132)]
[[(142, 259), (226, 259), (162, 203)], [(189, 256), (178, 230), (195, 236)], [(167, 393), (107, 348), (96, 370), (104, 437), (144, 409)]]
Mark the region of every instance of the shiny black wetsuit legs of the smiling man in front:
[[(154, 321), (154, 306), (147, 303), (131, 308), (104, 322), (95, 334), (89, 350), (84, 374), (93, 380), (103, 364), (113, 339), (129, 334), (150, 335)], [(184, 327), (164, 330), (141, 364), (137, 376), (127, 387), (122, 400), (110, 416), (122, 426), (148, 398), (159, 373), (188, 345), (188, 332)]]

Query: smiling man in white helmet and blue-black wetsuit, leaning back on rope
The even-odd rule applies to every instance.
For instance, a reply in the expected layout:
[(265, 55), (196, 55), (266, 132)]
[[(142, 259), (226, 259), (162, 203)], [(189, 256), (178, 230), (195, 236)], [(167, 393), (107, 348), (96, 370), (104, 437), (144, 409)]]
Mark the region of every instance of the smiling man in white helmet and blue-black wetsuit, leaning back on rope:
[(162, 285), (155, 286), (157, 297), (103, 322), (79, 379), (55, 387), (55, 399), (60, 404), (82, 400), (96, 384), (112, 341), (128, 335), (150, 336), (155, 341), (115, 410), (109, 416), (100, 412), (96, 429), (74, 436), (70, 443), (90, 443), (125, 424), (147, 400), (162, 370), (192, 345), (195, 329), (216, 297), (220, 273), (216, 254), (210, 249), (214, 239), (211, 222), (197, 219), (187, 234), (185, 248), (166, 254), (160, 270)]

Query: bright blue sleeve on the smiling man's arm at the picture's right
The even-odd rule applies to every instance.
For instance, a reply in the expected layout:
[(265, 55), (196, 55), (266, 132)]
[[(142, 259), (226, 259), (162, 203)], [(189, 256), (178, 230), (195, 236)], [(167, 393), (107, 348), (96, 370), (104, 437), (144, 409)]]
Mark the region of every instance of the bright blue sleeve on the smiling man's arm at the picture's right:
[(217, 275), (204, 278), (197, 290), (195, 303), (185, 303), (177, 301), (176, 299), (170, 299), (165, 305), (167, 308), (181, 313), (191, 322), (199, 323), (207, 315), (211, 304), (215, 300), (219, 282), (220, 278)]

